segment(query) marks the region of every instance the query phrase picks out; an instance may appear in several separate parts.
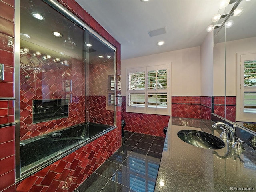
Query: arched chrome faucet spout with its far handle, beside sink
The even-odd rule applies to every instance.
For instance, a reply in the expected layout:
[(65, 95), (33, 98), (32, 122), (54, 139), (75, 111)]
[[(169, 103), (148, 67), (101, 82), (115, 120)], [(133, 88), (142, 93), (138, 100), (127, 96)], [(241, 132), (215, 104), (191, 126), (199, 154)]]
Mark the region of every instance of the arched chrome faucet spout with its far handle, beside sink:
[[(217, 122), (212, 125), (213, 128), (221, 128), (223, 130), (221, 136), (222, 138), (228, 138), (228, 142), (230, 144), (234, 144), (236, 142), (236, 126), (233, 125), (233, 127), (229, 126), (226, 123)], [(228, 131), (228, 134), (226, 135), (226, 130)], [(224, 136), (223, 136), (224, 135)]]

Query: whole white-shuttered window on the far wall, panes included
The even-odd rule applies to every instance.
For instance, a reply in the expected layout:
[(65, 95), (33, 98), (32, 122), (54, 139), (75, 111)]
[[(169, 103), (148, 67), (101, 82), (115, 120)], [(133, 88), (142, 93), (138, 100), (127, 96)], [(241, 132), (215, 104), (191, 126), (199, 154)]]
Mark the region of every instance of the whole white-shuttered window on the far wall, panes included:
[(170, 115), (169, 64), (127, 69), (126, 111)]

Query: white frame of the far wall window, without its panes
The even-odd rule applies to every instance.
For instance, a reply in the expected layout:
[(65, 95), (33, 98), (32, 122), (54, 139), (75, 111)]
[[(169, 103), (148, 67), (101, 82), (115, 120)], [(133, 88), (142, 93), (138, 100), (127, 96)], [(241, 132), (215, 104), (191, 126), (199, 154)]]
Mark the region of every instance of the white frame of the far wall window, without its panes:
[[(167, 78), (166, 83), (167, 86), (164, 89), (152, 89), (148, 88), (148, 72), (150, 71), (157, 71), (157, 70), (166, 70), (167, 72)], [(144, 89), (130, 89), (129, 79), (131, 73), (139, 73), (144, 72), (145, 73), (145, 87)], [(145, 106), (130, 106), (130, 94), (144, 94), (145, 98)], [(150, 107), (148, 106), (148, 95), (149, 94), (166, 94), (166, 102), (167, 106), (166, 108), (161, 107)], [(157, 65), (157, 66), (146, 66), (146, 67), (140, 67), (140, 68), (126, 68), (126, 112), (132, 112), (132, 113), (144, 113), (144, 114), (159, 114), (159, 115), (171, 115), (170, 110), (170, 103), (171, 103), (171, 94), (170, 94), (170, 65), (169, 64), (163, 64), (163, 65)]]

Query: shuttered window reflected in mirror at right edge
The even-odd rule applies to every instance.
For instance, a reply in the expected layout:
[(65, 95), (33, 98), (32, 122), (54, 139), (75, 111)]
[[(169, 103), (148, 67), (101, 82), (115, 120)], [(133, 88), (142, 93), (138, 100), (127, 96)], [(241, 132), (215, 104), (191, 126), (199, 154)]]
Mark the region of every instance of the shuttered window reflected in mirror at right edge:
[(236, 120), (256, 122), (256, 54), (240, 55)]

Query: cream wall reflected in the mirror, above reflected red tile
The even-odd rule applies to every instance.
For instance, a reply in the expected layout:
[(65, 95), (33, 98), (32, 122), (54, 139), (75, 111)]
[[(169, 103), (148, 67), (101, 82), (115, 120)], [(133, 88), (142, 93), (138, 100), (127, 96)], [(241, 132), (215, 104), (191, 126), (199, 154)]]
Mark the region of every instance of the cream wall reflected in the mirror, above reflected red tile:
[[(214, 96), (224, 96), (225, 45), (214, 46)], [(236, 54), (256, 53), (256, 37), (226, 42), (226, 96), (236, 96)]]

